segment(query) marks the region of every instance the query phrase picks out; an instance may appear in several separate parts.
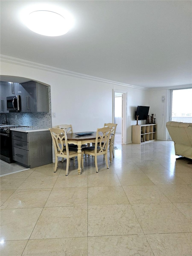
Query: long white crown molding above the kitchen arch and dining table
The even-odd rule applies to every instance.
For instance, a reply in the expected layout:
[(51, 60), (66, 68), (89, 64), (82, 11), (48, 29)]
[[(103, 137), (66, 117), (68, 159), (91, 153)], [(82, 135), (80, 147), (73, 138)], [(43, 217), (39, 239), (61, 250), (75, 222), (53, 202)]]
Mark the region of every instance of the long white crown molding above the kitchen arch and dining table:
[(7, 63), (11, 63), (11, 64), (16, 64), (16, 65), (22, 65), (22, 66), (29, 67), (29, 68), (41, 69), (41, 70), (44, 70), (44, 71), (49, 71), (49, 72), (53, 72), (53, 73), (57, 73), (57, 74), (63, 74), (63, 75), (66, 75), (66, 76), (78, 77), (78, 78), (89, 79), (89, 80), (95, 80), (95, 81), (98, 81), (98, 82), (110, 83), (110, 84), (114, 84), (114, 85), (130, 87), (130, 88), (134, 88), (134, 89), (149, 90), (148, 88), (145, 88), (145, 87), (134, 86), (134, 85), (127, 84), (127, 83), (120, 83), (120, 82), (116, 82), (116, 81), (113, 81), (113, 80), (104, 79), (104, 78), (101, 78), (101, 77), (89, 76), (89, 75), (86, 75), (86, 74), (81, 74), (81, 73), (77, 73), (77, 72), (74, 72), (74, 71), (65, 70), (65, 69), (62, 69), (62, 68), (55, 68), (55, 67), (44, 65), (44, 64), (41, 64), (41, 63), (32, 62), (32, 61), (28, 61), (28, 60), (24, 60), (24, 59), (18, 59), (18, 58), (7, 56), (7, 55), (2, 55), (1, 54), (0, 58), (1, 58), (1, 62), (7, 62)]

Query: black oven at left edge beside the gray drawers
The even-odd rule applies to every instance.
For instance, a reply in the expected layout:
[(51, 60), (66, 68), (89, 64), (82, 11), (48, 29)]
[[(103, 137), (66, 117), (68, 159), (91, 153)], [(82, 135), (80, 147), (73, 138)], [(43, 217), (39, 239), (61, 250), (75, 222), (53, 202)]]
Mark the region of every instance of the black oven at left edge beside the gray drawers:
[(0, 128), (0, 158), (1, 160), (11, 163), (12, 162), (12, 146), (11, 146), (11, 132), (8, 127)]

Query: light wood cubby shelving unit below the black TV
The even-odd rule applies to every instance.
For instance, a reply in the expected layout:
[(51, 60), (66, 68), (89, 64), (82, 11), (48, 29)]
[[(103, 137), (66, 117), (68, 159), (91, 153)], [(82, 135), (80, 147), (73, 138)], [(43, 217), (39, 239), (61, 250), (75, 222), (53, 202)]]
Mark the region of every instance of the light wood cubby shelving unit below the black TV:
[(157, 124), (132, 125), (132, 143), (142, 144), (153, 140), (157, 140)]

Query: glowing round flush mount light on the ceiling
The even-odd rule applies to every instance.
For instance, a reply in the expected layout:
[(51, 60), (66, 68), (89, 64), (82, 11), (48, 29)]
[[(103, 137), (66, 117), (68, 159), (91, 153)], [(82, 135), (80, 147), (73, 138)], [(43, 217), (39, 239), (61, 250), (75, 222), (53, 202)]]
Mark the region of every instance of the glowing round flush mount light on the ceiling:
[(64, 35), (69, 31), (67, 20), (52, 11), (33, 11), (29, 14), (26, 26), (33, 32), (46, 36)]

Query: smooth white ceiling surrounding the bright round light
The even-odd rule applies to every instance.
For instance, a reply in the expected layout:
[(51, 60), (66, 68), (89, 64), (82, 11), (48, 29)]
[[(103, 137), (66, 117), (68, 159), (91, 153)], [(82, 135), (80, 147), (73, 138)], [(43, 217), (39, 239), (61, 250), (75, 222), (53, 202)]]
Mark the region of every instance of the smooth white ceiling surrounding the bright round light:
[[(23, 8), (47, 2), (73, 15), (67, 34), (46, 37), (21, 23)], [(188, 85), (191, 6), (183, 0), (1, 0), (1, 54), (146, 88)]]

